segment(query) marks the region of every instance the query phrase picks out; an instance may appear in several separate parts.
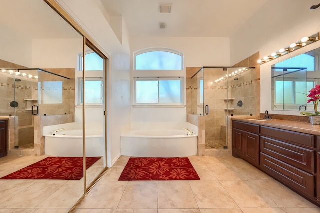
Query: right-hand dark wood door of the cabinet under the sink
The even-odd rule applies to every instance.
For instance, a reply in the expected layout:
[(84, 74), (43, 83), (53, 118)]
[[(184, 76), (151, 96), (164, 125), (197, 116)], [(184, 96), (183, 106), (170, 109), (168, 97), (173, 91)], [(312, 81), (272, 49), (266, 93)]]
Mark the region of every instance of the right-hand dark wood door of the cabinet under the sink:
[(255, 166), (259, 166), (259, 135), (245, 132), (243, 158)]

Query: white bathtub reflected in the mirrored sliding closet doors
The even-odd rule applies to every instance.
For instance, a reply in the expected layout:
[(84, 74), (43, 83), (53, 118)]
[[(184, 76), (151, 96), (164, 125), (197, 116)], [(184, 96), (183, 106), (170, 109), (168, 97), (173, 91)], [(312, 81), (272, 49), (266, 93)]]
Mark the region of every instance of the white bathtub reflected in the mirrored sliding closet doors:
[[(102, 130), (86, 130), (85, 134), (86, 156), (105, 157), (105, 145)], [(55, 135), (44, 135), (44, 152), (46, 155), (52, 156), (82, 157), (82, 130), (63, 130), (56, 132)]]

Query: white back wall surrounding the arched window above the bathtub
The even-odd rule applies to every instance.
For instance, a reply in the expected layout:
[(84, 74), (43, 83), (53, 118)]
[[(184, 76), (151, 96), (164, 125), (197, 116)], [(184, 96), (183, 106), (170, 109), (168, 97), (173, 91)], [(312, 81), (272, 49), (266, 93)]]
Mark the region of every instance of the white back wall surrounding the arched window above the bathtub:
[[(131, 69), (134, 52), (151, 47), (166, 47), (183, 53), (184, 70), (178, 76), (184, 77), (184, 105), (186, 104), (185, 68), (202, 66), (229, 66), (229, 38), (213, 37), (133, 37), (131, 39)], [(132, 70), (133, 72), (133, 70)], [(177, 71), (178, 73), (178, 71)], [(150, 74), (152, 76), (152, 74)], [(171, 76), (171, 75), (170, 75)], [(131, 95), (133, 97), (133, 76)], [(182, 108), (131, 108), (132, 122), (186, 121), (186, 107)]]

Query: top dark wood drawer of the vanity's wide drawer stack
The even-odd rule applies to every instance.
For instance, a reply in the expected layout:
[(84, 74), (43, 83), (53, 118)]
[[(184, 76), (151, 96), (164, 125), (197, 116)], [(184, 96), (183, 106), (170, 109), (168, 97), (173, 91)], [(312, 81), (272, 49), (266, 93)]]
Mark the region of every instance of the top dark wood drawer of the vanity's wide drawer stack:
[(314, 148), (314, 135), (267, 126), (261, 126), (260, 133), (261, 136), (289, 142), (290, 144)]

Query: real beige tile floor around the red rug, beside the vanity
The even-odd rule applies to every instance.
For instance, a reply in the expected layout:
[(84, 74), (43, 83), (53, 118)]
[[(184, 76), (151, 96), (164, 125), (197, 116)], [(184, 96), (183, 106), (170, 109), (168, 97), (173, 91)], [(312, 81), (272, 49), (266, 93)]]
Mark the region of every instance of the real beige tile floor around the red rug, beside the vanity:
[(121, 156), (75, 213), (319, 213), (320, 208), (247, 162), (233, 157), (189, 159), (201, 180), (117, 181)]

